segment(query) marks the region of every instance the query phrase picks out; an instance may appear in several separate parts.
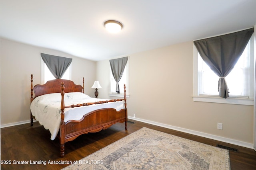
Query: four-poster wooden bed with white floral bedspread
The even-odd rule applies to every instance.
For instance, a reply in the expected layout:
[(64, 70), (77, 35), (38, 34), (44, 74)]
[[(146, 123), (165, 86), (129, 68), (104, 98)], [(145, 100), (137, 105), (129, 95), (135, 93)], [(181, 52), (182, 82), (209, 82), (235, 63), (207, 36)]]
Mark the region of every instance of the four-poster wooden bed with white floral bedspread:
[(49, 129), (51, 140), (60, 139), (61, 157), (65, 154), (65, 143), (82, 134), (98, 132), (118, 122), (125, 122), (127, 130), (125, 84), (123, 99), (105, 100), (84, 94), (84, 78), (83, 86), (64, 79), (33, 86), (31, 74), (30, 103), (30, 125), (35, 119)]

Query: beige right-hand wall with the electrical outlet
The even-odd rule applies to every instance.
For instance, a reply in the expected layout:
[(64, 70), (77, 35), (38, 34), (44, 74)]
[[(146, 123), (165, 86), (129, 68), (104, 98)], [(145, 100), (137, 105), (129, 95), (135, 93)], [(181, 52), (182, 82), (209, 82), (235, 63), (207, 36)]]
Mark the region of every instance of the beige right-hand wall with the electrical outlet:
[[(129, 64), (129, 116), (253, 143), (253, 106), (193, 102), (192, 41), (130, 54)], [(102, 98), (109, 98), (106, 69), (108, 60), (97, 62)]]

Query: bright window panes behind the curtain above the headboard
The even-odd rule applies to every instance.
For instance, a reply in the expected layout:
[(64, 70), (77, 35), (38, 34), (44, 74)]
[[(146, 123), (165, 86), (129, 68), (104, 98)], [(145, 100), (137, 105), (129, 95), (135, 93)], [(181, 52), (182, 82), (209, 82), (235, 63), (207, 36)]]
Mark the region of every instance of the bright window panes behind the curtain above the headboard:
[[(67, 80), (71, 80), (71, 65), (68, 67), (68, 69), (66, 70), (65, 74), (62, 76), (62, 79), (67, 79)], [(52, 75), (52, 73), (50, 72), (49, 68), (46, 66), (46, 64), (44, 63), (44, 61), (41, 59), (41, 83), (44, 84), (46, 83), (48, 80), (53, 80), (55, 79), (55, 77)]]

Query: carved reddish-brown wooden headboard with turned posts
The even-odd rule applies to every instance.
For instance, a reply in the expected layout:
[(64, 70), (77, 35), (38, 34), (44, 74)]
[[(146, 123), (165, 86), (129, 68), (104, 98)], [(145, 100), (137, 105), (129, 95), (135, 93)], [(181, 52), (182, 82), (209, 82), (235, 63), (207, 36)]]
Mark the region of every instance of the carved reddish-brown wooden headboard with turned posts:
[(60, 93), (62, 82), (64, 82), (64, 85), (65, 85), (65, 93), (69, 93), (69, 92), (84, 93), (84, 78), (83, 78), (83, 86), (76, 85), (73, 81), (65, 80), (65, 79), (49, 80), (45, 84), (36, 84), (34, 87), (32, 82), (33, 82), (33, 74), (31, 74), (31, 98), (33, 98), (33, 91), (34, 91), (34, 98), (44, 94)]

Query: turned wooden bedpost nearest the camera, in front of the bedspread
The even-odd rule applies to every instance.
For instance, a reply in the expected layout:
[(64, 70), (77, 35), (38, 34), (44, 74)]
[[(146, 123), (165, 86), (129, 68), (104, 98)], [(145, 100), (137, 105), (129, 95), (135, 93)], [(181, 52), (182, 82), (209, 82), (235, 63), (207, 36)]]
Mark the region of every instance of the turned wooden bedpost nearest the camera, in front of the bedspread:
[(61, 109), (61, 113), (60, 113), (60, 117), (61, 117), (61, 121), (60, 121), (60, 156), (63, 157), (65, 154), (65, 122), (64, 122), (64, 82), (61, 83), (61, 104), (60, 104), (60, 109)]

